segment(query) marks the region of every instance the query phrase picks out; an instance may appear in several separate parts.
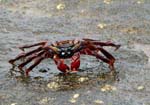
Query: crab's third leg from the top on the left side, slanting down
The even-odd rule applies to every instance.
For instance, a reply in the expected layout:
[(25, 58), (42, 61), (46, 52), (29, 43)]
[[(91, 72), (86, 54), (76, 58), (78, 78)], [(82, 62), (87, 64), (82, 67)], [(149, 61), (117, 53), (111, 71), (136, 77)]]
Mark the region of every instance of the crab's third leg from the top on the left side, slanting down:
[(42, 51), (42, 52), (40, 52), (39, 54), (33, 55), (32, 57), (28, 58), (25, 62), (21, 63), (21, 64), (18, 66), (18, 68), (19, 68), (20, 70), (22, 70), (22, 68), (23, 68), (25, 65), (27, 65), (28, 63), (30, 63), (30, 62), (31, 62), (32, 60), (34, 60), (35, 58), (37, 58), (37, 57), (41, 56), (42, 54), (44, 54), (44, 52), (45, 52), (45, 51)]

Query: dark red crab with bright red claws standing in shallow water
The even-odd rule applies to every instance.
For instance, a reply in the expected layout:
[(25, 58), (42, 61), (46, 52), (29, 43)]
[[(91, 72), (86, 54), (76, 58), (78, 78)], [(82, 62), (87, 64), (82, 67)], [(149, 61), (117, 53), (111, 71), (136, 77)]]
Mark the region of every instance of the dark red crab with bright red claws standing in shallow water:
[[(18, 65), (18, 68), (21, 71), (25, 71), (25, 75), (28, 76), (29, 72), (40, 64), (42, 60), (51, 58), (57, 65), (58, 70), (63, 73), (71, 73), (79, 70), (80, 55), (90, 55), (107, 63), (110, 70), (115, 71), (115, 58), (103, 48), (104, 46), (115, 47), (115, 50), (120, 47), (119, 44), (114, 44), (110, 41), (102, 42), (88, 38), (56, 41), (54, 43), (42, 41), (19, 47), (23, 52), (14, 59), (9, 60), (9, 63), (15, 65), (17, 60), (25, 58), (25, 61), (21, 62), (21, 64)], [(34, 49), (26, 52), (24, 49), (27, 48)], [(65, 59), (69, 59), (71, 61), (70, 66), (65, 64)], [(34, 61), (34, 63), (26, 70), (23, 70), (23, 68), (32, 61)]]

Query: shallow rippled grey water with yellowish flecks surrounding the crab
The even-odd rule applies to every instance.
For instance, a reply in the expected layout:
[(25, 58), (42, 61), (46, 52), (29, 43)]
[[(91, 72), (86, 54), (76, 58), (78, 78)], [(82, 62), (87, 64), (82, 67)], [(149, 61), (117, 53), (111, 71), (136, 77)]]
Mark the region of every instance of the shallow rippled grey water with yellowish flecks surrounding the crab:
[[(0, 105), (149, 105), (149, 7), (149, 0), (1, 0)], [(29, 78), (8, 63), (20, 45), (83, 37), (122, 45), (106, 48), (116, 58), (115, 75), (89, 56), (67, 76), (51, 59)]]

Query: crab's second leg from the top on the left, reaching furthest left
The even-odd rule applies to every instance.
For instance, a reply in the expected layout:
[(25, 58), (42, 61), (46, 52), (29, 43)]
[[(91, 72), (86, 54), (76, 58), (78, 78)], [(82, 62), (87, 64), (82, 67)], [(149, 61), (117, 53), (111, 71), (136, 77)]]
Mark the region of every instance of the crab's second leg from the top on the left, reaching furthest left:
[(32, 51), (29, 51), (29, 52), (27, 52), (27, 53), (24, 53), (24, 52), (23, 52), (23, 53), (21, 53), (19, 56), (17, 56), (16, 58), (9, 60), (9, 63), (13, 64), (16, 60), (19, 60), (20, 58), (29, 56), (29, 55), (31, 55), (31, 54), (33, 54), (33, 53), (37, 53), (37, 52), (39, 52), (39, 51), (41, 51), (41, 50), (42, 50), (42, 48), (39, 47), (39, 48), (37, 48), (37, 49), (35, 49), (35, 50), (32, 50)]

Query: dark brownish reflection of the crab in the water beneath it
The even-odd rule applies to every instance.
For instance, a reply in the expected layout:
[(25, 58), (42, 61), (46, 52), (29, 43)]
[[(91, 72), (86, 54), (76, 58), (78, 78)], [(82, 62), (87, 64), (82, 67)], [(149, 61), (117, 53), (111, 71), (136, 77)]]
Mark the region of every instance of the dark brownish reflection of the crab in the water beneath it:
[[(96, 85), (103, 85), (105, 83), (113, 83), (118, 80), (117, 72), (99, 72), (94, 74), (92, 72), (81, 71), (79, 73), (70, 74), (51, 74), (48, 79), (41, 76), (25, 76), (17, 71), (12, 71), (12, 75), (20, 82), (27, 84), (42, 85), (43, 88), (51, 91), (74, 90), (85, 87), (93, 87)], [(41, 86), (39, 86), (41, 87)]]

